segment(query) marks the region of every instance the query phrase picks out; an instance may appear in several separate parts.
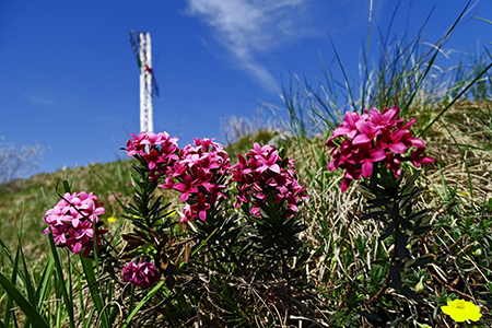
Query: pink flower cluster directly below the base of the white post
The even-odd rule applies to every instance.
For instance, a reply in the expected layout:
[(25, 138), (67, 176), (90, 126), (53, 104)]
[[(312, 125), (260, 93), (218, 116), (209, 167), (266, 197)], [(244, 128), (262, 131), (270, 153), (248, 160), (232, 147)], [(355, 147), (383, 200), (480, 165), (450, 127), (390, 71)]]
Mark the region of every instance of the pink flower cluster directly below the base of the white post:
[(171, 138), (167, 132), (153, 133), (140, 132), (139, 136), (131, 133), (132, 139), (127, 142), (128, 156), (134, 156), (148, 163), (151, 169), (151, 180), (157, 180), (173, 167), (175, 161), (179, 160), (177, 138)]

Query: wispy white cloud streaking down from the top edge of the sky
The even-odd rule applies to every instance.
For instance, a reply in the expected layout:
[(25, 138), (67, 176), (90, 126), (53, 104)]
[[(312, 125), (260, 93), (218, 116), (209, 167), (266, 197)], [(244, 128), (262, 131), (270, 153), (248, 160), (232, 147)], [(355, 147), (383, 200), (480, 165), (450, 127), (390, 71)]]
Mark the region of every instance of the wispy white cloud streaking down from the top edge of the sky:
[(213, 28), (242, 69), (267, 90), (278, 82), (257, 55), (309, 35), (307, 0), (188, 0), (187, 12)]

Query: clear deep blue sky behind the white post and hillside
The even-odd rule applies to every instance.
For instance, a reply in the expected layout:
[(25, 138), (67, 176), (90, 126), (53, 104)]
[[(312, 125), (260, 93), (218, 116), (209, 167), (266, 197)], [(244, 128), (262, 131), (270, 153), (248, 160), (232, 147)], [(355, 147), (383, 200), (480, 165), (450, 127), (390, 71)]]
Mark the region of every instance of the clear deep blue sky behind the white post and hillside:
[[(39, 172), (125, 157), (138, 133), (139, 68), (130, 30), (150, 32), (161, 97), (153, 99), (154, 131), (223, 141), (221, 120), (251, 118), (263, 103), (280, 104), (291, 74), (316, 83), (333, 61), (356, 74), (365, 46), (368, 0), (107, 0), (0, 2), (0, 136), (45, 149)], [(373, 2), (385, 31), (397, 1)], [(395, 36), (419, 32), (434, 8), (425, 39), (434, 43), (467, 1), (401, 1)], [(447, 49), (455, 60), (492, 42), (490, 1), (472, 1)], [(375, 57), (374, 57), (375, 59)], [(330, 69), (339, 73), (336, 65)]]

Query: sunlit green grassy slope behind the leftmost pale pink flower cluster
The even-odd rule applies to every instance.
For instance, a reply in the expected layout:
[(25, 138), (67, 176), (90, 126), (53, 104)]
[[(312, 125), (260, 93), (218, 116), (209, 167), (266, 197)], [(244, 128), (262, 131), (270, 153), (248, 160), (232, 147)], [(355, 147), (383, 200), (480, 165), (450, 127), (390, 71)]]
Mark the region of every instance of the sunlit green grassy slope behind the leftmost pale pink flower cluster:
[[(131, 196), (131, 187), (127, 186), (131, 180), (131, 164), (132, 161), (90, 164), (50, 174), (42, 173), (0, 186), (0, 238), (9, 249), (15, 249), (19, 234), (30, 260), (46, 256), (48, 243), (43, 235), (46, 227), (43, 216), (60, 199), (57, 191), (65, 194), (61, 185), (63, 179), (73, 183), (73, 190), (92, 190), (104, 202), (107, 213), (118, 216), (121, 209), (116, 201), (108, 201), (108, 197), (118, 192), (121, 192), (120, 198)], [(2, 267), (8, 263), (3, 253), (0, 259)]]

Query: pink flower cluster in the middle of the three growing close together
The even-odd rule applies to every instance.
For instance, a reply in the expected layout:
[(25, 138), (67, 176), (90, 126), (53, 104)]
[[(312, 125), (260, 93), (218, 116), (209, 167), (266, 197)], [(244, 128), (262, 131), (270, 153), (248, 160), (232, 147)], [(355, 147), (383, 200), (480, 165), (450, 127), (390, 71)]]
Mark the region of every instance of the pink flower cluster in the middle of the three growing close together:
[(186, 202), (183, 222), (196, 218), (204, 221), (207, 211), (226, 188), (225, 177), (229, 175), (230, 159), (224, 148), (213, 142), (213, 139), (195, 139), (195, 144), (188, 144), (180, 153), (179, 161), (166, 173), (161, 188), (181, 192), (179, 199)]

